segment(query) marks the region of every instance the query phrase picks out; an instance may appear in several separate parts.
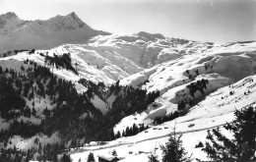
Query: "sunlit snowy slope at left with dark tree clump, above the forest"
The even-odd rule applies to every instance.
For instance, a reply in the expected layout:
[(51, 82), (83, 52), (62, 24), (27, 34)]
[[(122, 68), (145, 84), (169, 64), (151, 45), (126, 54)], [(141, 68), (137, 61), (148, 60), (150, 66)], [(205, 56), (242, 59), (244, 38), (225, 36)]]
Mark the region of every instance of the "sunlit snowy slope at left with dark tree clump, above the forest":
[(64, 69), (57, 70), (55, 67), (53, 67), (53, 73), (69, 81), (79, 81), (81, 78), (85, 78), (94, 82), (102, 81), (110, 84), (143, 70), (117, 53), (112, 55), (107, 52), (88, 49), (87, 45), (72, 44), (62, 45), (50, 50), (35, 50), (32, 54), (29, 54), (28, 51), (21, 52), (17, 55), (0, 58), (0, 64), (3, 68), (16, 69), (15, 67), (21, 67), (24, 60), (29, 59), (44, 65), (44, 56), (62, 55), (63, 53), (71, 54), (72, 65), (76, 67), (75, 64), (77, 63), (76, 68), (79, 75)]

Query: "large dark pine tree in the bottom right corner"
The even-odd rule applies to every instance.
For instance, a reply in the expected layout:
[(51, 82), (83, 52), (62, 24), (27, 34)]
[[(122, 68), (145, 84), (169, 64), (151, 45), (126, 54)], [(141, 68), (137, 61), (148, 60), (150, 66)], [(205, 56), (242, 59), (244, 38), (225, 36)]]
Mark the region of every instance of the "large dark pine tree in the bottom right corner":
[(256, 109), (253, 107), (236, 110), (235, 120), (224, 126), (234, 139), (225, 137), (220, 128), (208, 131), (202, 149), (214, 161), (252, 162), (256, 160)]

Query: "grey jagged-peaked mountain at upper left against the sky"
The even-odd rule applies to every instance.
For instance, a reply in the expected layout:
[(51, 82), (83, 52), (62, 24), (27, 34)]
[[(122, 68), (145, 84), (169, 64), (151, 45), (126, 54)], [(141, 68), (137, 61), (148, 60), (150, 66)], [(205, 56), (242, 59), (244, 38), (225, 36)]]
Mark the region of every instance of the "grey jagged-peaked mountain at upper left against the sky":
[(0, 51), (49, 49), (64, 43), (85, 43), (90, 37), (108, 32), (96, 30), (75, 14), (46, 21), (24, 21), (14, 13), (0, 16)]

